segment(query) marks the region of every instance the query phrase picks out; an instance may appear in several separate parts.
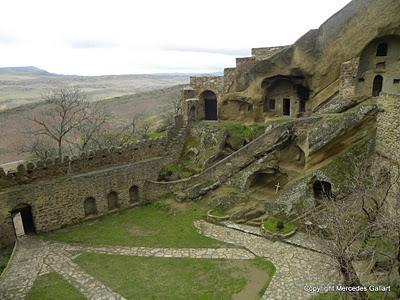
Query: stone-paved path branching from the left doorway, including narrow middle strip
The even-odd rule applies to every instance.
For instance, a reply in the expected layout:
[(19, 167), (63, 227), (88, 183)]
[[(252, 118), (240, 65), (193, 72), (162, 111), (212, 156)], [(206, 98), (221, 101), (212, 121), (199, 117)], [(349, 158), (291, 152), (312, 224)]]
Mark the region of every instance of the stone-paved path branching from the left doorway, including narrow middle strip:
[(0, 278), (0, 299), (24, 299), (36, 278), (50, 272), (61, 274), (87, 299), (124, 299), (121, 295), (85, 273), (73, 262), (74, 256), (82, 252), (198, 259), (255, 258), (255, 255), (251, 252), (238, 248), (97, 247), (45, 242), (38, 237), (26, 236), (19, 240), (10, 267)]

